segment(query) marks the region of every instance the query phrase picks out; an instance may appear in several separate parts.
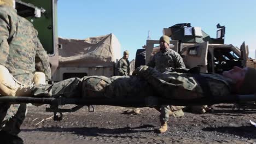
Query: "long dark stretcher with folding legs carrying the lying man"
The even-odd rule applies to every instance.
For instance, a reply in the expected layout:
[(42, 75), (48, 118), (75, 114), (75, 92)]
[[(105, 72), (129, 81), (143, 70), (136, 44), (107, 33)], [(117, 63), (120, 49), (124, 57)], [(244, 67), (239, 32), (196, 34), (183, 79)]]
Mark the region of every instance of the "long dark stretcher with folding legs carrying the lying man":
[[(213, 105), (220, 103), (234, 104), (245, 103), (249, 101), (256, 101), (256, 94), (247, 95), (228, 95), (227, 97), (203, 97), (199, 99), (184, 100), (184, 99), (167, 99), (162, 97), (146, 97), (146, 98), (125, 98), (125, 99), (111, 99), (111, 98), (35, 98), (35, 97), (0, 97), (1, 103), (20, 104), (49, 104), (46, 107), (47, 112), (54, 113), (54, 120), (62, 120), (62, 112), (75, 112), (84, 106), (88, 106), (89, 112), (94, 112), (93, 105), (112, 105), (123, 107), (155, 107), (159, 105)], [(62, 105), (77, 105), (71, 109), (61, 109)], [(59, 113), (59, 115), (57, 115)]]

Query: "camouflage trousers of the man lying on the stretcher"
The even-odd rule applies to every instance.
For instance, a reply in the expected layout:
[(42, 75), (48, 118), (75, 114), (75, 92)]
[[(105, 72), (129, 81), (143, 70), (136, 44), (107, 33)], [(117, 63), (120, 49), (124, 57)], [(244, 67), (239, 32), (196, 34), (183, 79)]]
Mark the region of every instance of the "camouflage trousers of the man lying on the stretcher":
[(104, 76), (85, 76), (80, 78), (71, 78), (52, 85), (36, 85), (32, 89), (34, 97), (65, 97), (65, 98), (83, 98), (94, 97), (103, 98), (106, 95), (106, 86), (108, 77)]

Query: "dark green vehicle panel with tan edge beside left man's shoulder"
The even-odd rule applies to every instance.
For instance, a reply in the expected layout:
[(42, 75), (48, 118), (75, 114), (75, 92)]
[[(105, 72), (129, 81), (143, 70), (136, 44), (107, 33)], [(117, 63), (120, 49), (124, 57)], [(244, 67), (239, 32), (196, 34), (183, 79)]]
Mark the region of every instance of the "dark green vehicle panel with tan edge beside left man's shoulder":
[(33, 23), (38, 31), (38, 38), (50, 59), (51, 73), (59, 65), (58, 35), (57, 35), (57, 0), (16, 0), (18, 15), (25, 17)]

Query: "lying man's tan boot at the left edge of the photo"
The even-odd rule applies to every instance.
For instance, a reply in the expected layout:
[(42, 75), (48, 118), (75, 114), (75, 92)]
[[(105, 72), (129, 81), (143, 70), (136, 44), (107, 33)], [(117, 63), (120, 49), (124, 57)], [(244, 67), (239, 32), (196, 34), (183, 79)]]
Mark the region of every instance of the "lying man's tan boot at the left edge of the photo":
[(0, 65), (0, 94), (2, 96), (28, 96), (31, 87), (16, 80), (3, 65)]

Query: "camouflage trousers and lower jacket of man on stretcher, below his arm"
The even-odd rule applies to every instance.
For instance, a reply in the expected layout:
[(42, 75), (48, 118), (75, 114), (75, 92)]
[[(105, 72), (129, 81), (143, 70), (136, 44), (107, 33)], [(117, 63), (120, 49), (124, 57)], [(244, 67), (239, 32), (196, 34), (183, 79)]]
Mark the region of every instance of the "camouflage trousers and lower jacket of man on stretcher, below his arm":
[(136, 76), (85, 76), (71, 78), (53, 85), (37, 85), (34, 97), (65, 98), (131, 98), (154, 96), (148, 82)]

